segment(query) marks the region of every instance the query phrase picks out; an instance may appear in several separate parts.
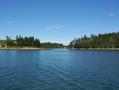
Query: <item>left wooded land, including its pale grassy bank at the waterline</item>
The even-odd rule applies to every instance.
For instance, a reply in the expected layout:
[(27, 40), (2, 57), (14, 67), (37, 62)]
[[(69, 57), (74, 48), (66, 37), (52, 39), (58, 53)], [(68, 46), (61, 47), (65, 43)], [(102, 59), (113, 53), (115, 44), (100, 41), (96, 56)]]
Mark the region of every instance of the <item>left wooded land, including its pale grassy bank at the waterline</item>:
[(49, 49), (49, 48), (63, 48), (61, 43), (51, 43), (41, 41), (33, 36), (22, 37), (21, 35), (16, 36), (15, 39), (11, 39), (6, 36), (6, 40), (0, 40), (1, 49)]

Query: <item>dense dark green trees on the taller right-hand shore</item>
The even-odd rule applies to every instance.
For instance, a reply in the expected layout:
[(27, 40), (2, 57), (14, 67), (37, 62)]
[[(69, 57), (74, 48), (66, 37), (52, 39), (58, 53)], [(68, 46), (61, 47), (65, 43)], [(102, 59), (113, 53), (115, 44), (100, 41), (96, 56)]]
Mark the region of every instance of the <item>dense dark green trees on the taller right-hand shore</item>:
[(70, 48), (119, 48), (119, 32), (93, 35), (84, 35), (74, 39), (69, 44)]

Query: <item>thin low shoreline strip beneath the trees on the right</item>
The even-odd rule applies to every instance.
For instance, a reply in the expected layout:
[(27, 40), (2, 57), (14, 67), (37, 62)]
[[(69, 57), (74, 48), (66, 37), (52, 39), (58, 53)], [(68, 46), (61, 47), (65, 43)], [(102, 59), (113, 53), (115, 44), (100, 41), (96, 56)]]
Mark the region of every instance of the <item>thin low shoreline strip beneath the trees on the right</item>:
[(79, 51), (119, 51), (119, 48), (71, 48), (71, 50)]

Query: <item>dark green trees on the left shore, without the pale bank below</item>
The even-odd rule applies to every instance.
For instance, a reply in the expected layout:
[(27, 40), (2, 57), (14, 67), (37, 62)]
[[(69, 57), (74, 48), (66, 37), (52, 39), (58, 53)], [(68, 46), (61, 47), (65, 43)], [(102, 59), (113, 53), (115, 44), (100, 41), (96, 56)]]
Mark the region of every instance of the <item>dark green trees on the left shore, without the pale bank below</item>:
[(16, 36), (15, 39), (11, 39), (9, 36), (6, 36), (6, 40), (4, 40), (4, 43), (8, 47), (37, 47), (37, 48), (62, 48), (63, 47), (63, 44), (60, 43), (50, 43), (50, 42), (41, 43), (39, 39), (34, 38), (33, 36), (23, 37), (21, 35)]

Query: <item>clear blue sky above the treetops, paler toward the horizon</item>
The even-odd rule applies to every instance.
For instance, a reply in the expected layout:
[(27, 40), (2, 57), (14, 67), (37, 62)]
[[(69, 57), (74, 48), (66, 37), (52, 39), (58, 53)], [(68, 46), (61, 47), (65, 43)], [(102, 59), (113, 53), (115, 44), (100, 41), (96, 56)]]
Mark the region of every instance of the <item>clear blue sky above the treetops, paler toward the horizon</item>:
[(119, 31), (119, 0), (0, 0), (0, 38), (35, 36), (68, 44)]

